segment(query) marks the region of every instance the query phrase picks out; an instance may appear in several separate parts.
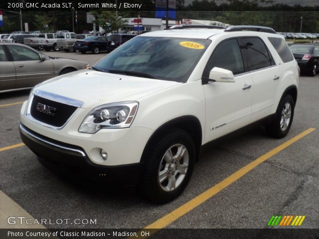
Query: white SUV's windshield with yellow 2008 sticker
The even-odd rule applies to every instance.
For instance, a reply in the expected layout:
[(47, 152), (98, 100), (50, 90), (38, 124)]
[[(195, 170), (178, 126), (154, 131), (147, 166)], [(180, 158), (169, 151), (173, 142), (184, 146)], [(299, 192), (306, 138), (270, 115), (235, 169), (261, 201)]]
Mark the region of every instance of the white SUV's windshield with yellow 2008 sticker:
[(135, 37), (115, 49), (94, 68), (160, 80), (186, 82), (210, 40), (175, 37)]

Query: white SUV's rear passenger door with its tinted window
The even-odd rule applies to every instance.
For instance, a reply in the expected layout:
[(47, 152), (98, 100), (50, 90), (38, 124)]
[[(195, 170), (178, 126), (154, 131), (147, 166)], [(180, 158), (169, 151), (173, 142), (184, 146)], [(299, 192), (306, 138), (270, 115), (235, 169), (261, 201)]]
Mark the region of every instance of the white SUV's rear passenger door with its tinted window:
[(256, 121), (272, 114), (272, 106), (283, 74), (261, 38), (242, 37), (240, 48), (253, 80), (251, 119)]

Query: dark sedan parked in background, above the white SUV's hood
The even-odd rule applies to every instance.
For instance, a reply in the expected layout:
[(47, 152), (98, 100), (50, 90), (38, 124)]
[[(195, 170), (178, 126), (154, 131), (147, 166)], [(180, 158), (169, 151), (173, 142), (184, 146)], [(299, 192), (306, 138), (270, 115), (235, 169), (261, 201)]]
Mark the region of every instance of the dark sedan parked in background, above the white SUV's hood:
[(107, 51), (108, 39), (106, 36), (89, 36), (83, 40), (76, 41), (73, 50), (86, 53), (91, 51), (94, 54), (100, 51)]

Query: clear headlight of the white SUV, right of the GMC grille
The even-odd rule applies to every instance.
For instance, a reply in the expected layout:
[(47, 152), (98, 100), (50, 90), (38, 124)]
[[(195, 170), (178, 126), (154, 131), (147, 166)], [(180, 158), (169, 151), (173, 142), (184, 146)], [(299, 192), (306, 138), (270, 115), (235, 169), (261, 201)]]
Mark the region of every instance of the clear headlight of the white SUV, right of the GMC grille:
[(130, 127), (138, 111), (139, 103), (126, 101), (111, 103), (95, 108), (84, 119), (79, 132), (96, 133), (101, 128)]

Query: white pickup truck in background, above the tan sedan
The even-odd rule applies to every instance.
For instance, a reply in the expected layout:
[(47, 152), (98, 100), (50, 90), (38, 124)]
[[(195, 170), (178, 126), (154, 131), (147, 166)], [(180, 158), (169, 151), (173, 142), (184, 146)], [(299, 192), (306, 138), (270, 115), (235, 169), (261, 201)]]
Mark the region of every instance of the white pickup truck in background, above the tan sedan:
[(56, 47), (56, 34), (54, 33), (40, 33), (38, 37), (24, 38), (23, 43), (34, 49), (59, 50)]

